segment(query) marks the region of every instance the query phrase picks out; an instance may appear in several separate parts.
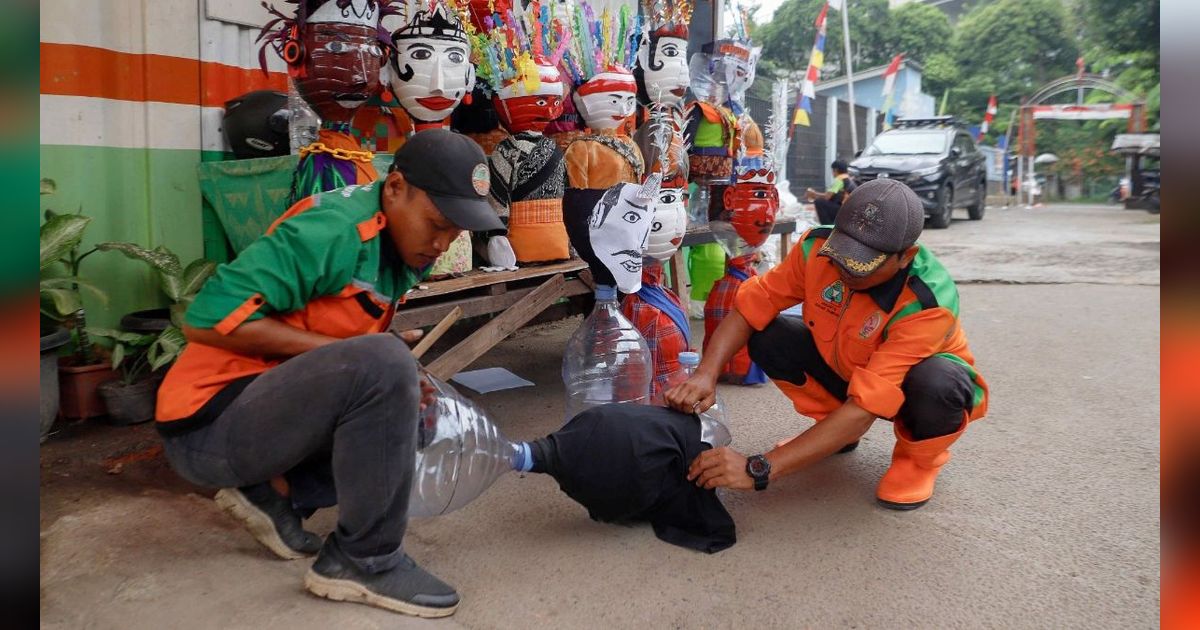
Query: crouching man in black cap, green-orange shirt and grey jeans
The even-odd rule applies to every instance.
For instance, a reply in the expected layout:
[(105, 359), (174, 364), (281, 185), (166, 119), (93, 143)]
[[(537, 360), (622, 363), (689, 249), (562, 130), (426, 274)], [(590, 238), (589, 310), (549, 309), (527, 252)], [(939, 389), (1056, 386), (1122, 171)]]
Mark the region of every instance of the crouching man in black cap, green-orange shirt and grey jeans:
[[(502, 229), (470, 139), (414, 134), (385, 179), (302, 199), (218, 268), (185, 317), (158, 392), (167, 457), (325, 598), (421, 617), (454, 588), (401, 547), (415, 427), (432, 389), (388, 330), (395, 306), (463, 229)], [(419, 336), (407, 335), (412, 342)], [(301, 515), (338, 506), (322, 545)]]

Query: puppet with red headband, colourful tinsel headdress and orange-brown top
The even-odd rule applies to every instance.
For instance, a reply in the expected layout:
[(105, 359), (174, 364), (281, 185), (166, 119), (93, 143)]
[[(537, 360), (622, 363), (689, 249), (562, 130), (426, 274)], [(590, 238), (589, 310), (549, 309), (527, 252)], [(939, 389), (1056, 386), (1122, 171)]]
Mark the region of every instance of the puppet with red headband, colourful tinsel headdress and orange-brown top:
[(642, 181), (641, 151), (623, 134), (637, 104), (637, 83), (628, 68), (637, 55), (640, 23), (628, 6), (606, 8), (599, 17), (586, 0), (575, 7), (563, 65), (588, 133), (566, 148), (564, 214), (588, 214), (608, 187)]

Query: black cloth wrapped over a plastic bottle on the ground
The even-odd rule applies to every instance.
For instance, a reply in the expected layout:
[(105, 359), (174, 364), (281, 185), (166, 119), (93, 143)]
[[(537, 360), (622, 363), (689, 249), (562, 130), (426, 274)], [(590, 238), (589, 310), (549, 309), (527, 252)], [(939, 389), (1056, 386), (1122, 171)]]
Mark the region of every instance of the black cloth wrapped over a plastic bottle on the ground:
[(704, 553), (737, 542), (716, 491), (688, 481), (709, 446), (695, 416), (635, 403), (593, 407), (533, 443), (534, 472), (587, 508), (595, 521), (649, 522), (662, 541)]

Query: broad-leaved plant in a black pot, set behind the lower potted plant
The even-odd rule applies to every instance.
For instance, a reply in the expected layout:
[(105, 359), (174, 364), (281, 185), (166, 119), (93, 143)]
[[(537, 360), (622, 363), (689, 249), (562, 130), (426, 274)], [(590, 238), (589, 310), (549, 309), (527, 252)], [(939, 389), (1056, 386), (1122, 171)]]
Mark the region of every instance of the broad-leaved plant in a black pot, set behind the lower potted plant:
[(170, 326), (182, 326), (184, 312), (196, 299), (204, 281), (211, 276), (217, 264), (204, 258), (192, 260), (184, 266), (174, 252), (162, 245), (146, 250), (132, 242), (101, 242), (100, 251), (121, 252), (128, 258), (142, 260), (158, 274), (162, 292), (170, 300), (167, 308), (149, 308), (134, 311), (121, 318), (121, 328), (133, 332), (161, 332)]

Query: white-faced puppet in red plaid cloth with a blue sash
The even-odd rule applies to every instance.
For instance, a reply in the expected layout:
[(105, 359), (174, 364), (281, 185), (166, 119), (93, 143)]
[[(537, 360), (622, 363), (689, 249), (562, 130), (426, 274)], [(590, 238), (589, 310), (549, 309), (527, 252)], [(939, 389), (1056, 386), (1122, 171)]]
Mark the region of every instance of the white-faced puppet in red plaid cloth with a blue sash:
[(688, 230), (688, 162), (680, 144), (674, 142), (677, 128), (670, 106), (658, 103), (641, 130), (648, 138), (643, 149), (652, 175), (662, 176), (658, 203), (650, 221), (650, 233), (642, 252), (642, 288), (625, 295), (622, 312), (646, 337), (654, 364), (650, 402), (662, 402), (671, 377), (679, 371), (679, 353), (691, 348), (688, 312), (679, 296), (664, 283), (662, 264), (674, 256)]

